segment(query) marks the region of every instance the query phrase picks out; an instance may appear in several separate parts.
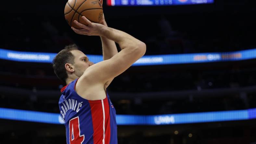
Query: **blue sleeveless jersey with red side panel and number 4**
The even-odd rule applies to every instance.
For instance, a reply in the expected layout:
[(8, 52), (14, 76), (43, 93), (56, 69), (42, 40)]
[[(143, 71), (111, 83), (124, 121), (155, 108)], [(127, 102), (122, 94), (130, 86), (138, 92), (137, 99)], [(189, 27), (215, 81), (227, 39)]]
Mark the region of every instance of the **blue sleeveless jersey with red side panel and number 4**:
[(61, 89), (60, 116), (67, 144), (117, 144), (116, 110), (106, 92), (103, 100), (89, 101), (75, 91), (78, 79)]

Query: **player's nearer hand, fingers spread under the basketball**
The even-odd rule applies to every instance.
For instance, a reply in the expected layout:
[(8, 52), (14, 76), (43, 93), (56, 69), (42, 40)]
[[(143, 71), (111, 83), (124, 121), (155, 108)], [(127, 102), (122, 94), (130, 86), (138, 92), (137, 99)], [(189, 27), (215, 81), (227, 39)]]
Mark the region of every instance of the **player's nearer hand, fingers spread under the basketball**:
[(82, 17), (83, 20), (88, 24), (87, 26), (74, 20), (74, 23), (79, 26), (82, 29), (76, 29), (74, 27), (71, 27), (72, 30), (74, 30), (75, 33), (83, 34), (83, 35), (94, 35), (94, 36), (101, 36), (101, 30), (104, 27), (102, 24), (93, 23), (84, 16)]

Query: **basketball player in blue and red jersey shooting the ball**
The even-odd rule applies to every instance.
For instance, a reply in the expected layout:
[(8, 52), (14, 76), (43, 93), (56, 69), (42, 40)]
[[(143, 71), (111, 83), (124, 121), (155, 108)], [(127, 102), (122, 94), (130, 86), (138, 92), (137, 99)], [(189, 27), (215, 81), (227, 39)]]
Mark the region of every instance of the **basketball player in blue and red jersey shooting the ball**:
[[(68, 144), (117, 144), (116, 111), (106, 92), (120, 75), (146, 52), (145, 43), (131, 35), (82, 17), (74, 21), (78, 34), (100, 36), (104, 61), (94, 64), (76, 45), (66, 46), (53, 60), (55, 74), (66, 82), (59, 109), (65, 121)], [(118, 53), (115, 42), (121, 47)]]

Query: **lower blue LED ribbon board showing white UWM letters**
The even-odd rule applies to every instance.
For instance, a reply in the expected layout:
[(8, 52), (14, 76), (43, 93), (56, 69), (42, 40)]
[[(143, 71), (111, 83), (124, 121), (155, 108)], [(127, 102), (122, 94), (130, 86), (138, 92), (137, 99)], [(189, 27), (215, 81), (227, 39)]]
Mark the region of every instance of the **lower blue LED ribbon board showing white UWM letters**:
[[(0, 108), (0, 119), (63, 124), (60, 114)], [(117, 115), (118, 125), (173, 125), (256, 119), (256, 109), (165, 115)]]

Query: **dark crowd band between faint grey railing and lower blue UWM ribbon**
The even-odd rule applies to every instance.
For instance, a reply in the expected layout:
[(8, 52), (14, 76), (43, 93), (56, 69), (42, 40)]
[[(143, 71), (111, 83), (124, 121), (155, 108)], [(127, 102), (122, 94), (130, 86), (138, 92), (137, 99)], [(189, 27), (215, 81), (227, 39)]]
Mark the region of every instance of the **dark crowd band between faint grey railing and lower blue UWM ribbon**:
[[(254, 87), (255, 89), (255, 87)], [(177, 95), (176, 97), (141, 98), (138, 95), (130, 94), (129, 98), (123, 98), (121, 94), (114, 97), (109, 93), (117, 114), (181, 114), (197, 112), (214, 112), (228, 110), (243, 110), (256, 107), (255, 92), (232, 92), (227, 94), (210, 95)], [(46, 93), (46, 92), (45, 92)], [(113, 93), (112, 93), (113, 94)], [(54, 97), (37, 95), (36, 92), (30, 94), (0, 94), (0, 105), (4, 108), (15, 108), (23, 110), (59, 113), (58, 95)]]

